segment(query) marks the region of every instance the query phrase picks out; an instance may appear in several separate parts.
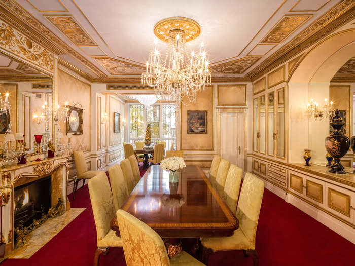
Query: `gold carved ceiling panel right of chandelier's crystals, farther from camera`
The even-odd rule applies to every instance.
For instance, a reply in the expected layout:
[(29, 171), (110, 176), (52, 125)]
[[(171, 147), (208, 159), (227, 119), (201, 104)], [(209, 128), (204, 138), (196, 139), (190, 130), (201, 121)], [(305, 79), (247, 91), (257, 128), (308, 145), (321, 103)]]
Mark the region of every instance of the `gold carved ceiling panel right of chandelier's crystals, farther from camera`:
[(227, 63), (211, 66), (212, 74), (242, 74), (261, 57), (243, 57)]

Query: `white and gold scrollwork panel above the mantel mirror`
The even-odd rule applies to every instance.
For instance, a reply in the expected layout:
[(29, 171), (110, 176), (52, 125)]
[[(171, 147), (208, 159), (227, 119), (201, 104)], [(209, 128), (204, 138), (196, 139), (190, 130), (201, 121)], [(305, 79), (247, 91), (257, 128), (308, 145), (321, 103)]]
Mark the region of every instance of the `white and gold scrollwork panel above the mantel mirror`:
[(0, 20), (0, 47), (53, 72), (54, 55), (3, 20)]

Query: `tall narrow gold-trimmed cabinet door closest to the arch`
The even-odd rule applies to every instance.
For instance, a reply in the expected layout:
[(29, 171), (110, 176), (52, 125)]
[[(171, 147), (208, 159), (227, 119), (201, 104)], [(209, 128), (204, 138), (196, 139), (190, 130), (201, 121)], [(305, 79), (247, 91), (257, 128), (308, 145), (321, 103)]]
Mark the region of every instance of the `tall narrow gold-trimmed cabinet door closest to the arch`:
[(277, 157), (285, 158), (285, 89), (277, 90), (277, 118), (276, 118), (276, 147)]

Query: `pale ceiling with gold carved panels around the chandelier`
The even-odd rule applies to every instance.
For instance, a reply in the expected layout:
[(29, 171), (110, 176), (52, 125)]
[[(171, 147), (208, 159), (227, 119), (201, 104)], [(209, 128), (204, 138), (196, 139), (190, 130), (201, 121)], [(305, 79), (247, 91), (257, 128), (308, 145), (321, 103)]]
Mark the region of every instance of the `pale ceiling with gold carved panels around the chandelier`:
[[(61, 62), (94, 80), (114, 81), (139, 78), (153, 48), (153, 27), (164, 18), (197, 21), (201, 33), (188, 42), (188, 50), (196, 51), (203, 41), (212, 77), (238, 78), (246, 77), (339, 0), (0, 0), (0, 5), (17, 15), (21, 13), (14, 5), (19, 5), (58, 36), (67, 46), (59, 55)], [(164, 53), (165, 43), (159, 41), (158, 49)]]

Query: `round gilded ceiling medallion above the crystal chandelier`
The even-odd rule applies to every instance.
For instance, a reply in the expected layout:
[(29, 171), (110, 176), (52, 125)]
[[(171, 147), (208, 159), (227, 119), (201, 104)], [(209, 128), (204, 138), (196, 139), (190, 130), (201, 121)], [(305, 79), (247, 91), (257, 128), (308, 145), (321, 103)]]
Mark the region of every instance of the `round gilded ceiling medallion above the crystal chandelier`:
[(186, 42), (192, 41), (200, 35), (200, 25), (190, 18), (170, 17), (159, 21), (154, 26), (154, 34), (163, 42), (169, 41), (169, 34), (172, 30), (183, 30)]

